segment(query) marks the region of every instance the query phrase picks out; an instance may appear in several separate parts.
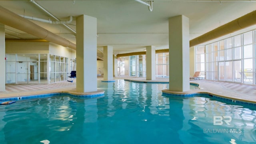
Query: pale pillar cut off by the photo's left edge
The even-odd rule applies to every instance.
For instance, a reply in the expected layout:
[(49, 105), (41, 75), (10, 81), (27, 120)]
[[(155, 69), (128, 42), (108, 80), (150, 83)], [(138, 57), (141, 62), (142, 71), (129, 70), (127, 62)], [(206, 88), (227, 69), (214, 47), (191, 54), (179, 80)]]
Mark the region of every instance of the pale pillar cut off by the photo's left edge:
[(0, 75), (2, 80), (0, 80), (0, 92), (5, 91), (5, 82), (6, 82), (6, 75), (5, 75), (5, 33), (4, 33), (4, 25), (0, 24)]

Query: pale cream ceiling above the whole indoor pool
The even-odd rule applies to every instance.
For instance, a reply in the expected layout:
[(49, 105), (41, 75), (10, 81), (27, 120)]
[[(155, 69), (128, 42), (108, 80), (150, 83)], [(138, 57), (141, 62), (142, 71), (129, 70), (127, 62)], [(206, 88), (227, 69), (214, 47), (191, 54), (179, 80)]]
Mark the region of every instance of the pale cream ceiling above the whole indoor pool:
[[(103, 46), (113, 46), (114, 54), (140, 52), (146, 46), (168, 48), (168, 18), (184, 15), (189, 18), (190, 40), (222, 26), (256, 9), (256, 0), (154, 0), (153, 11), (135, 0), (0, 0), (0, 6), (20, 15), (35, 18), (73, 21), (49, 24), (31, 20), (37, 25), (76, 44), (76, 17), (82, 14), (97, 18), (98, 56)], [(6, 39), (36, 38), (26, 32), (5, 27)], [(256, 27), (255, 27), (256, 28)]]

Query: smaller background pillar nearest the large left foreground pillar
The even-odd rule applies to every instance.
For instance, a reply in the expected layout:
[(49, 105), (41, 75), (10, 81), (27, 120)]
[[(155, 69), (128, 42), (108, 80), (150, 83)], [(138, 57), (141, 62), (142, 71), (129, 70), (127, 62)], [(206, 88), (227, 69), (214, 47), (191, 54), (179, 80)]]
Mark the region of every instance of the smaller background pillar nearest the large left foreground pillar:
[(113, 80), (113, 47), (104, 46), (103, 47), (103, 80)]

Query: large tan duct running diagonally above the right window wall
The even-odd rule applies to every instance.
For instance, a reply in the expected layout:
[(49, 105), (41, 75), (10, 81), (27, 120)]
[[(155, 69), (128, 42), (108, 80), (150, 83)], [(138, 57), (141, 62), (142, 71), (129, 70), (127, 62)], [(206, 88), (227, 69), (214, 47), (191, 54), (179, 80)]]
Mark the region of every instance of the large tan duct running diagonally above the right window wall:
[(242, 30), (243, 28), (247, 28), (249, 26), (256, 24), (256, 10), (250, 12), (240, 18), (237, 18), (223, 26), (220, 26), (210, 32), (207, 32), (197, 38), (190, 40), (190, 47), (196, 46), (198, 44), (202, 44), (204, 42), (208, 42), (210, 40), (219, 38), (221, 36), (225, 36), (232, 32), (236, 32), (238, 30)]

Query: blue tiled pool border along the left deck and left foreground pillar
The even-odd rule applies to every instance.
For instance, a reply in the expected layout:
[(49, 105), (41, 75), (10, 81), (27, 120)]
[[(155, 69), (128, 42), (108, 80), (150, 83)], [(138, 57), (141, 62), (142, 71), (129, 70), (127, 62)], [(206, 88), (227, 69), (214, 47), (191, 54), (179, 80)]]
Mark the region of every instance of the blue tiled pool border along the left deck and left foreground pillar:
[(104, 96), (104, 93), (100, 94), (88, 94), (88, 95), (76, 95), (76, 94), (70, 94), (67, 92), (64, 93), (51, 93), (51, 94), (38, 94), (38, 95), (32, 95), (32, 96), (20, 96), (20, 97), (13, 97), (13, 98), (0, 98), (0, 101), (6, 101), (6, 100), (28, 100), (33, 98), (48, 98), (51, 96), (73, 96), (77, 98), (100, 98)]

